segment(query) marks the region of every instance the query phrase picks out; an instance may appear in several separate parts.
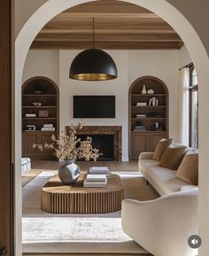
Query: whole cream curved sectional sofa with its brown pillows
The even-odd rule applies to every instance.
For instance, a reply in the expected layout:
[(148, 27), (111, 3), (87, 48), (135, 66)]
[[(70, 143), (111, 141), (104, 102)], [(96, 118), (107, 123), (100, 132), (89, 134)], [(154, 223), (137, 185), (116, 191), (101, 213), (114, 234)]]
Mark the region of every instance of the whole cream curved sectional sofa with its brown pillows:
[(154, 256), (194, 256), (197, 250), (190, 248), (188, 238), (198, 234), (198, 189), (189, 182), (197, 184), (197, 151), (182, 146), (181, 156), (173, 148), (164, 147), (159, 159), (158, 150), (140, 154), (139, 171), (162, 197), (148, 201), (124, 199), (121, 224), (129, 237)]

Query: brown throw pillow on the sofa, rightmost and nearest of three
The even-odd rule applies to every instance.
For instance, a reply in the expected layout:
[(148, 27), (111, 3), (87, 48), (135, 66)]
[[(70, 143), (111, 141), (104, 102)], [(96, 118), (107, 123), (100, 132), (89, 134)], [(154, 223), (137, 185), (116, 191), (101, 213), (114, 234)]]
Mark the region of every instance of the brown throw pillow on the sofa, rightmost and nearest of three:
[(198, 184), (198, 153), (188, 152), (182, 159), (182, 163), (179, 166), (176, 177), (189, 182), (192, 185)]

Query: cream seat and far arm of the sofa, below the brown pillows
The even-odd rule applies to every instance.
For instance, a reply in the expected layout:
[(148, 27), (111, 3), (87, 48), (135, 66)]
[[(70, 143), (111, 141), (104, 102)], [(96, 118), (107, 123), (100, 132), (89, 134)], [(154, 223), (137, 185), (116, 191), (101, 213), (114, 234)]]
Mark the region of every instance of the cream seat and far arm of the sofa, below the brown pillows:
[(181, 190), (197, 188), (188, 182), (176, 177), (176, 171), (160, 167), (159, 162), (153, 158), (154, 153), (143, 152), (139, 156), (138, 168), (143, 177), (151, 183), (152, 187), (163, 196)]

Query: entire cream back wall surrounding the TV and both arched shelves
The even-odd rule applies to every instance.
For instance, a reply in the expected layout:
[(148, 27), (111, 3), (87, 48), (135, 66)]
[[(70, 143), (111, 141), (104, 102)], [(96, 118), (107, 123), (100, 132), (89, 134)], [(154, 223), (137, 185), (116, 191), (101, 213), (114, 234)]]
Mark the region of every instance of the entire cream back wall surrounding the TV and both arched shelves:
[(179, 50), (108, 50), (118, 68), (112, 81), (75, 81), (69, 79), (70, 65), (80, 50), (29, 50), (23, 82), (35, 75), (55, 81), (60, 93), (60, 128), (73, 119), (74, 95), (115, 95), (115, 119), (84, 119), (85, 125), (122, 126), (122, 159), (128, 160), (128, 89), (135, 79), (153, 75), (169, 90), (169, 136), (177, 139), (177, 78)]

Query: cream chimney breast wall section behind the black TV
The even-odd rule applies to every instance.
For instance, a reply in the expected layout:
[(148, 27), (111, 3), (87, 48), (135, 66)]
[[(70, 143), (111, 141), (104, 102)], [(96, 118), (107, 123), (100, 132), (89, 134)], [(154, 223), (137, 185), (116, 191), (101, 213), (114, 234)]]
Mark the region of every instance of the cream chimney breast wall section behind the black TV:
[(60, 50), (60, 127), (64, 128), (77, 121), (73, 119), (74, 95), (115, 95), (115, 119), (84, 119), (84, 122), (85, 125), (92, 126), (122, 126), (122, 159), (128, 160), (128, 51), (109, 51), (118, 68), (118, 78), (112, 81), (69, 79), (69, 67), (78, 52), (80, 51)]

